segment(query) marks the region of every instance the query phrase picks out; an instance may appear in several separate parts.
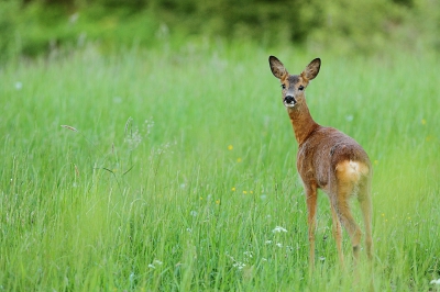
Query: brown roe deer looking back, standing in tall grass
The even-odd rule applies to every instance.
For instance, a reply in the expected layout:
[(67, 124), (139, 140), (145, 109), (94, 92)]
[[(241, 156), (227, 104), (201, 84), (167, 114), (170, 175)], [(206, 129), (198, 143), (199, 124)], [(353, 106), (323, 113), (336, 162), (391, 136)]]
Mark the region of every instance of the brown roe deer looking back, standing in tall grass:
[(350, 198), (354, 194), (361, 204), (365, 226), (367, 257), (372, 258), (372, 167), (365, 150), (351, 137), (333, 127), (317, 124), (306, 103), (305, 90), (317, 77), (321, 60), (314, 59), (300, 75), (289, 75), (276, 57), (268, 58), (272, 74), (283, 88), (283, 103), (294, 126), (298, 143), (296, 166), (302, 180), (310, 243), (309, 265), (315, 263), (315, 226), (317, 190), (323, 190), (330, 199), (333, 236), (339, 260), (343, 266), (341, 223), (350, 235), (354, 263), (359, 259), (362, 232), (350, 211)]

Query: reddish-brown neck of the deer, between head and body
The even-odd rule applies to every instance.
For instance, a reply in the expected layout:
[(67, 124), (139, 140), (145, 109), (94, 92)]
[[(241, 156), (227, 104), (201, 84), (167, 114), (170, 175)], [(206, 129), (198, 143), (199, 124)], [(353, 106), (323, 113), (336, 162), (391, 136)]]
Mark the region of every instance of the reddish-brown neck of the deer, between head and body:
[(319, 125), (311, 117), (306, 102), (298, 103), (295, 108), (289, 108), (287, 112), (294, 126), (296, 141), (298, 145), (301, 145)]

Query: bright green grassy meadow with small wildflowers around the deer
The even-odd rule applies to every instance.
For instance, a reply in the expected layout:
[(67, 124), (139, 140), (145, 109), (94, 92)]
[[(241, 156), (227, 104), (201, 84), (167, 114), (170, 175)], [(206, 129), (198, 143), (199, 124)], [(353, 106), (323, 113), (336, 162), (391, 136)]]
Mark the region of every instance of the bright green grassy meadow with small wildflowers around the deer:
[(361, 252), (354, 283), (324, 193), (308, 273), (297, 145), (271, 54), (292, 72), (317, 57), (189, 41), (3, 66), (0, 290), (439, 290), (439, 59), (322, 54), (307, 89), (315, 120), (374, 165), (375, 258), (370, 269)]

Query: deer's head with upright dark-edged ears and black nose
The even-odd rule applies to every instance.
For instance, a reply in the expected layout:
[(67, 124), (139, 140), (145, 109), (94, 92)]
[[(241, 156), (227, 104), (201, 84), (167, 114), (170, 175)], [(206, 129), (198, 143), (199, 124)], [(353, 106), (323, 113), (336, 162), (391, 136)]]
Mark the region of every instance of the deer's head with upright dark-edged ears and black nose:
[(268, 57), (272, 74), (278, 78), (283, 88), (283, 103), (286, 108), (294, 108), (305, 99), (304, 92), (309, 81), (317, 77), (321, 67), (321, 59), (316, 58), (307, 65), (300, 75), (289, 75), (283, 63), (275, 56)]

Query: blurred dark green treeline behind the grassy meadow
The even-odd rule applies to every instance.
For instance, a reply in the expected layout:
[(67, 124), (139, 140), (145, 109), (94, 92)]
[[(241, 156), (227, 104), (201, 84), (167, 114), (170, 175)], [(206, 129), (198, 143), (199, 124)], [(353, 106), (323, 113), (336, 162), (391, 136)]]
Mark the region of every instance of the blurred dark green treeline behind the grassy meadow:
[(440, 1), (0, 0), (2, 58), (87, 43), (152, 46), (170, 34), (356, 53), (389, 44), (439, 52)]

